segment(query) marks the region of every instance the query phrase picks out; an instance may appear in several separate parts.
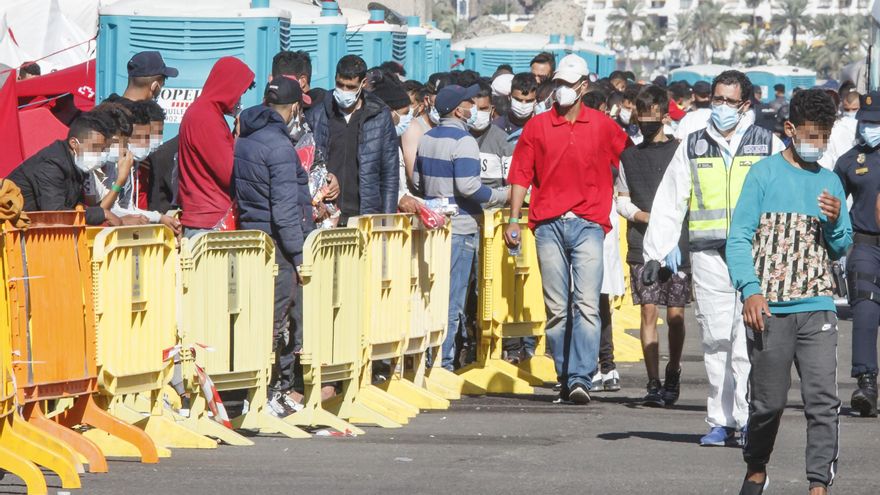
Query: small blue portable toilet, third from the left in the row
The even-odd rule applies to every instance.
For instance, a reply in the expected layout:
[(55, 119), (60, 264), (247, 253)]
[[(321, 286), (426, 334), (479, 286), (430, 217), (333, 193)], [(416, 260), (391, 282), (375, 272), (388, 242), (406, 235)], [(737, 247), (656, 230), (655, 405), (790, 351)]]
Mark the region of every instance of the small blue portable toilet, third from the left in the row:
[(385, 12), (370, 10), (370, 20), (363, 25), (349, 25), (346, 48), (375, 67), (389, 60), (406, 61), (406, 28), (385, 22)]

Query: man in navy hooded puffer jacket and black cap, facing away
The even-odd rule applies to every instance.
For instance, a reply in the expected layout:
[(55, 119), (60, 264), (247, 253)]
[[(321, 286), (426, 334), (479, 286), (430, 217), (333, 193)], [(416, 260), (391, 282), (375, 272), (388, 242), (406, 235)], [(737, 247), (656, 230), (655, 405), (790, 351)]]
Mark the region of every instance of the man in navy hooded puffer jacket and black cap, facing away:
[[(262, 230), (275, 242), (278, 276), (273, 337), (279, 369), (293, 362), (293, 356), (285, 350), (283, 330), (299, 283), (296, 267), (302, 263), (303, 241), (314, 229), (310, 196), (303, 194), (308, 191), (308, 175), (300, 165), (287, 128), (302, 104), (299, 83), (284, 76), (274, 78), (266, 86), (264, 104), (248, 108), (239, 117), (232, 170), (240, 227)], [(273, 372), (273, 376), (285, 375), (280, 370)], [(284, 396), (291, 387), (292, 383), (283, 378), (271, 385), (269, 406), (273, 414), (286, 416), (294, 412)]]

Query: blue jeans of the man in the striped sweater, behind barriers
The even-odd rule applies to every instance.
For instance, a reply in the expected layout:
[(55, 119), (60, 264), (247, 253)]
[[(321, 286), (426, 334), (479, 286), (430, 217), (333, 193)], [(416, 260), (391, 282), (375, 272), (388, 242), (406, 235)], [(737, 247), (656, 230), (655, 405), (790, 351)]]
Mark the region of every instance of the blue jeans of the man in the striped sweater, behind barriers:
[[(474, 269), (474, 257), (480, 247), (480, 234), (452, 234), (452, 260), (449, 273), (449, 320), (443, 341), (441, 365), (452, 371), (455, 361), (455, 336), (467, 300), (468, 281)], [(463, 326), (462, 326), (463, 328)]]

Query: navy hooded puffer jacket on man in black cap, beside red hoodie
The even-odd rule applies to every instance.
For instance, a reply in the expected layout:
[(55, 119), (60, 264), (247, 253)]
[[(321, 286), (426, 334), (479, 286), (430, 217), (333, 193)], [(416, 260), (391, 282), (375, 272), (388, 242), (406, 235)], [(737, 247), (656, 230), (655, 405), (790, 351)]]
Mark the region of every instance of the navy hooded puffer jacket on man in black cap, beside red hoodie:
[[(311, 203), (301, 201), (308, 175), (288, 136), (281, 115), (266, 106), (251, 107), (239, 117), (232, 186), (243, 229), (266, 232), (294, 265), (302, 263), (305, 233), (311, 231)], [(308, 200), (308, 198), (307, 198)]]

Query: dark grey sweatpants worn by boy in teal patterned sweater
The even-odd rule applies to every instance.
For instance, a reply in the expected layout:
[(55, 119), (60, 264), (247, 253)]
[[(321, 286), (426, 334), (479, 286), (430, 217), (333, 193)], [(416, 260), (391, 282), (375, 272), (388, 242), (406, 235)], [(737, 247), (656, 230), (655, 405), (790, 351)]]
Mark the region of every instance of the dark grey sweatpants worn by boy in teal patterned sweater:
[(801, 379), (807, 418), (807, 479), (830, 485), (837, 471), (837, 315), (815, 311), (773, 315), (763, 332), (747, 331), (749, 423), (743, 458), (751, 468), (770, 460), (791, 387), (791, 364)]

